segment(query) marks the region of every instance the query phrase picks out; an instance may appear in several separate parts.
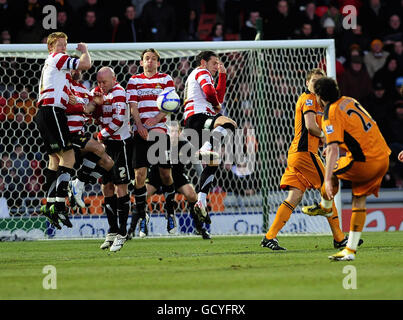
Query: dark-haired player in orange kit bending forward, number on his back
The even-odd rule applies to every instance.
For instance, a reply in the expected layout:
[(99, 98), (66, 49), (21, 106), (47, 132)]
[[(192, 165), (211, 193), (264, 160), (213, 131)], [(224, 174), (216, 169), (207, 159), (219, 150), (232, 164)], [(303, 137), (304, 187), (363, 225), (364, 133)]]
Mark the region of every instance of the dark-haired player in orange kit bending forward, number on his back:
[[(326, 136), (326, 198), (320, 204), (303, 208), (304, 213), (326, 215), (332, 210), (338, 179), (352, 182), (352, 215), (346, 247), (329, 256), (331, 260), (354, 260), (366, 219), (366, 198), (378, 196), (382, 178), (389, 168), (391, 153), (378, 125), (361, 104), (340, 96), (332, 78), (316, 81), (314, 92), (324, 107), (322, 129)], [(339, 148), (346, 152), (339, 157)], [(324, 196), (324, 195), (323, 195)]]

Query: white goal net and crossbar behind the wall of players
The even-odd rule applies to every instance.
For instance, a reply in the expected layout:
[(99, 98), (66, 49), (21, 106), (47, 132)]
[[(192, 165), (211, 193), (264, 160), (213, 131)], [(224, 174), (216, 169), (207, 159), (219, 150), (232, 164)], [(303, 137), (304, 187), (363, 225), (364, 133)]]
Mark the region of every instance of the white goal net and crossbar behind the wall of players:
[[(306, 72), (325, 67), (335, 77), (334, 44), (313, 41), (237, 41), (153, 44), (89, 44), (93, 67), (83, 73), (88, 88), (96, 85), (101, 66), (114, 69), (118, 82), (126, 87), (131, 75), (142, 72), (141, 52), (149, 47), (161, 55), (160, 71), (172, 76), (183, 98), (184, 84), (201, 50), (213, 50), (227, 69), (227, 91), (223, 114), (234, 119), (240, 131), (241, 154), (233, 163), (220, 165), (215, 187), (208, 196), (211, 234), (261, 234), (273, 221), (286, 193), (279, 189), (286, 167), (287, 151), (294, 135), (295, 103), (305, 90)], [(69, 44), (69, 53), (75, 45)], [(87, 207), (72, 211), (73, 228), (54, 230), (39, 214), (44, 202), (44, 169), (47, 156), (33, 116), (45, 45), (0, 46), (0, 236), (25, 238), (103, 237), (108, 224), (103, 214), (100, 184), (87, 185)], [(183, 108), (171, 121), (183, 119)], [(96, 132), (94, 124), (89, 132)], [(198, 174), (191, 164), (187, 174), (194, 185)], [(301, 205), (318, 199), (309, 191)], [(134, 197), (133, 197), (134, 198)], [(163, 196), (149, 200), (150, 236), (167, 235)], [(193, 221), (187, 201), (176, 196), (178, 234), (192, 234)], [(133, 206), (134, 207), (134, 206)], [(5, 217), (9, 214), (10, 217)], [(129, 218), (130, 223), (130, 218)], [(282, 230), (284, 233), (328, 233), (326, 219), (303, 215), (296, 208)]]

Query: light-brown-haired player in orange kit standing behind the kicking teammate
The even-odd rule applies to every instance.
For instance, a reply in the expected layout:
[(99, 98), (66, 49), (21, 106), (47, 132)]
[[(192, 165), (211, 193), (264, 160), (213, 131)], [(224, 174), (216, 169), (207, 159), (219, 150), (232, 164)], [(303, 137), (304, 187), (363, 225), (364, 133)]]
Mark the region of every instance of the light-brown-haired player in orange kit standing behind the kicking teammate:
[[(269, 231), (261, 241), (261, 246), (272, 250), (286, 250), (277, 240), (278, 232), (284, 227), (295, 207), (301, 202), (306, 189), (320, 189), (324, 192), (324, 166), (318, 155), (324, 134), (318, 123), (322, 121), (323, 108), (317, 103), (313, 86), (326, 74), (322, 69), (307, 73), (307, 90), (299, 97), (295, 109), (295, 135), (288, 150), (287, 168), (280, 181), (280, 188), (288, 190), (288, 196), (277, 209), (276, 217)], [(333, 204), (327, 221), (333, 234), (333, 245), (342, 248), (347, 238), (340, 230), (336, 206)]]

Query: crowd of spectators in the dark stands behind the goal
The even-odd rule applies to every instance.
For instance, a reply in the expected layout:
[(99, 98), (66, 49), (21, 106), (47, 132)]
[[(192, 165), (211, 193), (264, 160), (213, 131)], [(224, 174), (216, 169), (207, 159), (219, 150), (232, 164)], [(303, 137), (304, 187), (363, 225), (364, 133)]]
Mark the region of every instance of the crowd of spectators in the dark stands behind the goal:
[[(0, 43), (45, 43), (55, 31), (43, 28), (46, 5), (56, 7), (57, 31), (65, 32), (70, 43), (254, 40), (260, 23), (262, 40), (334, 39), (341, 93), (362, 103), (393, 151), (383, 187), (403, 188), (403, 164), (396, 161), (403, 150), (403, 97), (398, 92), (403, 85), (402, 0), (0, 0)], [(358, 14), (357, 25), (350, 29), (343, 26), (343, 8), (348, 5)], [(189, 62), (180, 63), (183, 68), (178, 67), (178, 72), (186, 73)], [(135, 64), (122, 68), (137, 71)], [(180, 74), (175, 83), (183, 86)], [(12, 94), (4, 87), (0, 91), (0, 135), (10, 140), (12, 130), (22, 149), (30, 145), (22, 159), (17, 142), (2, 141), (0, 164), (8, 174), (0, 175), (0, 194), (10, 184), (12, 191), (34, 194), (42, 183), (36, 168), (43, 160), (32, 148), (35, 142), (28, 141), (31, 136), (22, 141), (24, 134), (15, 134), (15, 130), (35, 130), (35, 88), (36, 83), (28, 83), (16, 86)], [(20, 168), (25, 170), (23, 176), (18, 175)], [(222, 175), (226, 181), (238, 181), (237, 186), (247, 184), (242, 188), (228, 184), (227, 190), (253, 194), (258, 189), (255, 177), (242, 179), (250, 176), (245, 167), (223, 167)]]

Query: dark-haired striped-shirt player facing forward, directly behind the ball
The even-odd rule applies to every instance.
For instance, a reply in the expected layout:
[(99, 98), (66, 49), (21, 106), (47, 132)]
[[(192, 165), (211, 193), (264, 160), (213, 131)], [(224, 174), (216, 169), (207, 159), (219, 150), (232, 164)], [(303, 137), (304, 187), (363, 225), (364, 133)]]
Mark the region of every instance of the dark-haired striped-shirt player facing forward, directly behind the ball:
[[(148, 150), (154, 141), (148, 139), (149, 133), (157, 133), (164, 141), (166, 150), (162, 155), (165, 157), (158, 160), (159, 173), (163, 184), (165, 196), (166, 218), (169, 225), (174, 225), (173, 199), (175, 187), (172, 179), (170, 163), (170, 140), (167, 134), (167, 114), (157, 107), (158, 95), (166, 88), (175, 88), (174, 82), (168, 74), (158, 72), (160, 55), (155, 49), (146, 49), (141, 54), (140, 65), (143, 73), (133, 75), (127, 84), (127, 102), (130, 105), (134, 119), (133, 136), (133, 167), (135, 171), (134, 197), (136, 200), (137, 215), (140, 220), (140, 237), (148, 235), (149, 215), (146, 212), (147, 199), (147, 168), (150, 167)], [(159, 141), (160, 142), (160, 141)], [(170, 221), (171, 220), (171, 221)], [(132, 223), (133, 225), (133, 223)], [(136, 225), (136, 223), (134, 224)]]

